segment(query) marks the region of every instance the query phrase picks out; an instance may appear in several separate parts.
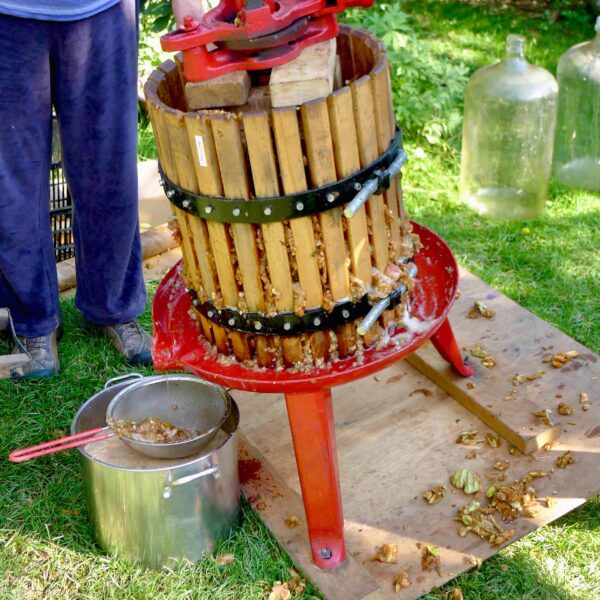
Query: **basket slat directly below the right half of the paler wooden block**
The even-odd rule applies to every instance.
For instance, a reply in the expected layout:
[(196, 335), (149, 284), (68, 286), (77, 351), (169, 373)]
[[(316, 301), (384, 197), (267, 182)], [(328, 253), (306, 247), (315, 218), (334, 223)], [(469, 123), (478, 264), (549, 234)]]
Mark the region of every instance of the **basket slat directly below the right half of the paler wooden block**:
[[(325, 100), (314, 100), (303, 104), (300, 113), (313, 187), (335, 181), (337, 173), (327, 102)], [(348, 298), (350, 296), (350, 277), (341, 209), (333, 208), (320, 213), (319, 223), (325, 246), (327, 278), (333, 300), (338, 301)], [(340, 356), (350, 354), (355, 346), (356, 332), (353, 326), (348, 324), (341, 327), (338, 335)]]

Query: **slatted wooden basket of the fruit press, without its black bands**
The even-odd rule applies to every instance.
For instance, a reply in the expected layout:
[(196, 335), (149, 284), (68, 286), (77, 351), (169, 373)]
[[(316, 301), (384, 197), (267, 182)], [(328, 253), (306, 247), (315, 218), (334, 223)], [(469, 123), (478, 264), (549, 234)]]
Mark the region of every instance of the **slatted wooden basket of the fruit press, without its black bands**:
[[(346, 85), (289, 108), (188, 111), (178, 63), (163, 63), (144, 91), (166, 177), (192, 193), (252, 202), (323, 186), (372, 163), (395, 135), (385, 49), (370, 33), (344, 26), (337, 47)], [(389, 281), (388, 266), (406, 264), (418, 246), (400, 177), (352, 219), (342, 207), (260, 225), (173, 211), (186, 286), (201, 301), (240, 312), (330, 310)], [(197, 321), (220, 353), (238, 361), (312, 368), (381, 340), (406, 301), (385, 312), (364, 338), (356, 322), (335, 331), (267, 336), (230, 330), (199, 313)]]

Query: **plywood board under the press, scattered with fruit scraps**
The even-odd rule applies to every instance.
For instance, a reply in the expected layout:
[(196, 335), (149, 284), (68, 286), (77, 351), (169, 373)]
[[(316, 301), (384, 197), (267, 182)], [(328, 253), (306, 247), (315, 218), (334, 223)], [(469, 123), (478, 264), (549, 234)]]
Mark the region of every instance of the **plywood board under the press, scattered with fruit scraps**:
[[(489, 477), (499, 476), (493, 468), (497, 460), (509, 461), (509, 469), (505, 471), (509, 482), (532, 470), (548, 473), (547, 477), (535, 480), (534, 487), (541, 499), (549, 496), (556, 504), (548, 508), (540, 501), (534, 518), (520, 518), (506, 525), (507, 529), (515, 529), (511, 541), (572, 510), (600, 490), (598, 357), (468, 273), (463, 273), (461, 291), (451, 314), (459, 344), (466, 347), (481, 343), (498, 361), (497, 370), (490, 372), (478, 366), (473, 395), (477, 392), (480, 401), (489, 398), (489, 403), (501, 404), (503, 395), (513, 387), (514, 372), (529, 374), (546, 368), (540, 379), (518, 386), (516, 399), (504, 401), (507, 407), (502, 407), (501, 416), (514, 429), (523, 427), (525, 436), (535, 426), (531, 403), (555, 411), (562, 400), (573, 406), (575, 413), (555, 417), (561, 435), (548, 452), (513, 455), (509, 452), (510, 444), (503, 440), (496, 449), (477, 445), (477, 457), (467, 459), (473, 447), (455, 443), (461, 431), (476, 429), (483, 437), (490, 429), (406, 361), (376, 376), (334, 389), (345, 534), (348, 554), (352, 557), (342, 570), (325, 572), (311, 567), (304, 525), (291, 530), (283, 523), (292, 514), (304, 523), (283, 398), (233, 392), (249, 442), (246, 459), (260, 463), (251, 485), (244, 484), (246, 494), (255, 508), (260, 505), (261, 518), (327, 598), (417, 598), (472, 568), (474, 559), (485, 559), (498, 552), (499, 547), (472, 534), (458, 535), (454, 517), (472, 499), (449, 483), (449, 476), (459, 468), (474, 470), (486, 487)], [(496, 310), (494, 320), (466, 319), (465, 311), (473, 299), (483, 299)], [(541, 348), (548, 346), (552, 346), (548, 352), (581, 349), (581, 357), (551, 372), (552, 367), (541, 363), (546, 352)], [(431, 361), (427, 352), (425, 349), (421, 356)], [(419, 391), (423, 389), (429, 395)], [(587, 392), (591, 400), (587, 412), (579, 403), (580, 392)], [(572, 451), (575, 462), (566, 469), (558, 469), (555, 461), (567, 449)], [(281, 482), (283, 489), (273, 493), (269, 477)], [(447, 496), (439, 504), (428, 505), (422, 493), (442, 484), (448, 488)], [(304, 545), (298, 543), (299, 531)], [(293, 543), (289, 541), (291, 536)], [(398, 544), (397, 564), (371, 560), (384, 543)], [(417, 544), (434, 544), (439, 548), (439, 574), (421, 570)], [(411, 584), (398, 595), (393, 590), (393, 580), (400, 571), (408, 572)], [(363, 587), (357, 588), (354, 595), (340, 596), (336, 590), (346, 588), (336, 585), (343, 585), (349, 577), (352, 581), (364, 580)], [(378, 584), (379, 596), (372, 590), (372, 580)]]

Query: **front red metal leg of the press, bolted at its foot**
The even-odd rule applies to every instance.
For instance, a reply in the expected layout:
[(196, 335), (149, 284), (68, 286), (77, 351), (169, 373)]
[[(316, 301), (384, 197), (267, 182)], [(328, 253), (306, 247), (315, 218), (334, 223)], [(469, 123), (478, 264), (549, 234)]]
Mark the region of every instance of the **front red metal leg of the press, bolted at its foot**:
[(313, 562), (339, 567), (346, 557), (331, 390), (286, 394)]

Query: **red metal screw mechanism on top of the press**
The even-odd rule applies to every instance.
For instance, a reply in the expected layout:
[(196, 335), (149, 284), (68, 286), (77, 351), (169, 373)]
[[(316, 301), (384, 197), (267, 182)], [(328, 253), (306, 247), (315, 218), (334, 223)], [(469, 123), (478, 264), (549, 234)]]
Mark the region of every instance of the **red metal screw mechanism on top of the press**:
[[(204, 81), (233, 71), (271, 69), (303, 48), (336, 37), (335, 15), (374, 0), (222, 0), (200, 22), (161, 38), (163, 50), (181, 51), (187, 81)], [(209, 45), (212, 45), (210, 48)]]

